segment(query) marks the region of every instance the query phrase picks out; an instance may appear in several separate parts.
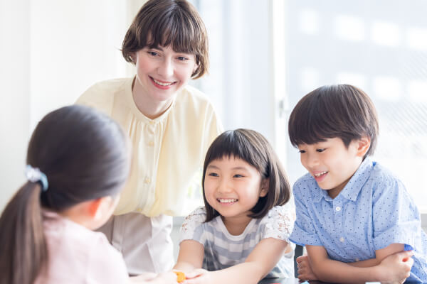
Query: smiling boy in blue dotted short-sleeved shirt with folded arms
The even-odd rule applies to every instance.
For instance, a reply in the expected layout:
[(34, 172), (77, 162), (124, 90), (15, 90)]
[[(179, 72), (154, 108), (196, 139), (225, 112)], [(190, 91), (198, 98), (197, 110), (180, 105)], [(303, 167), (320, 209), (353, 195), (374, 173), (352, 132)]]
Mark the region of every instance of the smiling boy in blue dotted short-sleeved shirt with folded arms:
[(320, 87), (293, 109), (290, 141), (309, 171), (293, 187), (290, 240), (308, 254), (297, 259), (299, 278), (427, 281), (418, 209), (400, 180), (369, 159), (377, 133), (374, 104), (357, 87)]

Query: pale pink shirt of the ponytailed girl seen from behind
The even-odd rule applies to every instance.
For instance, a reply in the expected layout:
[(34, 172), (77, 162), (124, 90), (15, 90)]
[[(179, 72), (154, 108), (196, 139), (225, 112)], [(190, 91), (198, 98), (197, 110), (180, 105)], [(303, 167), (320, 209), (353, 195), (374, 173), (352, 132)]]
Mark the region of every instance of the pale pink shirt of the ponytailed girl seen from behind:
[(125, 261), (104, 234), (53, 212), (43, 217), (50, 259), (35, 284), (128, 282)]

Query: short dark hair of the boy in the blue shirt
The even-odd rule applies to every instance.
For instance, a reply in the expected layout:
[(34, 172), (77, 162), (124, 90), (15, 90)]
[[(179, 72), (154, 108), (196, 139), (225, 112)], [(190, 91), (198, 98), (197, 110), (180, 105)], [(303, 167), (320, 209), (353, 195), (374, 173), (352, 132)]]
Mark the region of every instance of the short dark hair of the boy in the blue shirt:
[(293, 146), (341, 138), (346, 147), (367, 136), (372, 155), (378, 136), (378, 118), (368, 95), (349, 84), (323, 86), (306, 94), (292, 110), (288, 131)]

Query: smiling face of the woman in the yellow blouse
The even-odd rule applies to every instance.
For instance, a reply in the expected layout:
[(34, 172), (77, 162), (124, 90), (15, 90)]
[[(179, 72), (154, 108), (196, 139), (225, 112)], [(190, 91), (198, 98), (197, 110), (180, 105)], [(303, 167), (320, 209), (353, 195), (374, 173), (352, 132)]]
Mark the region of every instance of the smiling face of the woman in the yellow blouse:
[(135, 65), (134, 88), (140, 89), (152, 102), (172, 99), (197, 69), (193, 54), (176, 53), (170, 45), (142, 48), (135, 53)]

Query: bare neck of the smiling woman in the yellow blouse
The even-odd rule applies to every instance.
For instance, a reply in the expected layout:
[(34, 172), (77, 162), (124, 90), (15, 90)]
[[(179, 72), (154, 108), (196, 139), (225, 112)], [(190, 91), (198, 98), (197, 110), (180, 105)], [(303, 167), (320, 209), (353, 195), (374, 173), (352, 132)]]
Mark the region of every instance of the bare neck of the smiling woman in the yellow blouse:
[(157, 119), (157, 117), (164, 114), (174, 101), (174, 97), (165, 101), (154, 101), (149, 96), (144, 95), (144, 90), (141, 89), (139, 84), (135, 84), (135, 79), (132, 84), (132, 98), (137, 109), (149, 119)]

